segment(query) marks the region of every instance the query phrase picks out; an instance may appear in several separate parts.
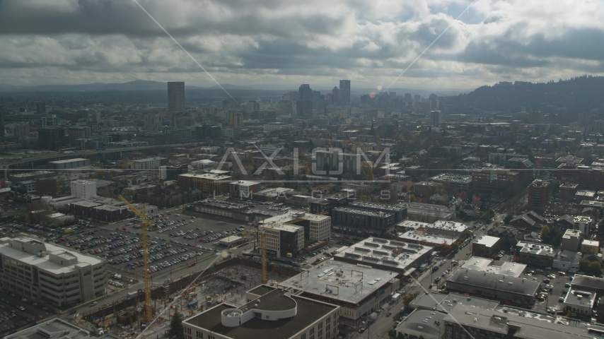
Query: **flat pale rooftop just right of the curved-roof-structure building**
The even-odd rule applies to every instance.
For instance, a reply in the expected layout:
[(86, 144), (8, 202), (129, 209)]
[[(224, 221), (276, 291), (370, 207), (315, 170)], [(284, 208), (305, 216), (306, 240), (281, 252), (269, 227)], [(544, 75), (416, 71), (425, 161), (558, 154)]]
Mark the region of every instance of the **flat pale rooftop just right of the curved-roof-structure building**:
[(387, 270), (368, 268), (330, 259), (279, 286), (303, 290), (311, 295), (358, 304), (395, 277)]

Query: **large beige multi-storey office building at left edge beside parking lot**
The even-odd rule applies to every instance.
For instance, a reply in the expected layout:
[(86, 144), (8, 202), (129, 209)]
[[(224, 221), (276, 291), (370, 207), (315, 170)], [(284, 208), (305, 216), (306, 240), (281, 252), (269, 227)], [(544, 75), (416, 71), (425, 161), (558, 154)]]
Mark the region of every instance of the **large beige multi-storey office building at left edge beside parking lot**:
[(0, 239), (3, 290), (67, 307), (105, 295), (105, 261), (35, 238)]

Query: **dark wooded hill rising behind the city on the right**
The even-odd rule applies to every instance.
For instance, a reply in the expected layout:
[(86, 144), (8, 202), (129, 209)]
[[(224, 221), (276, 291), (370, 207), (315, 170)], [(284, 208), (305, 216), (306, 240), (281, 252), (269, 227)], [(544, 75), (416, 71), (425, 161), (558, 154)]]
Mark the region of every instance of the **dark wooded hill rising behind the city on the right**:
[(604, 77), (579, 76), (548, 83), (501, 82), (482, 86), (464, 95), (446, 97), (446, 102), (459, 109), (505, 112), (520, 112), (521, 106), (544, 112), (601, 109), (604, 103)]

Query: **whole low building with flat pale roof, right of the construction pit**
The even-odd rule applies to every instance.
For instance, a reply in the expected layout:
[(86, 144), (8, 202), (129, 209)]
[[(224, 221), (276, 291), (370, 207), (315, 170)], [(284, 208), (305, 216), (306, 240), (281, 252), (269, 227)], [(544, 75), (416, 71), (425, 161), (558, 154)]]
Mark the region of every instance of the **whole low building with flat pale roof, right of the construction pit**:
[[(346, 281), (346, 285), (342, 285), (342, 281)], [(390, 295), (400, 288), (400, 277), (388, 270), (329, 260), (294, 275), (277, 287), (284, 287), (294, 295), (337, 304), (340, 319), (356, 324), (361, 317), (388, 302)]]

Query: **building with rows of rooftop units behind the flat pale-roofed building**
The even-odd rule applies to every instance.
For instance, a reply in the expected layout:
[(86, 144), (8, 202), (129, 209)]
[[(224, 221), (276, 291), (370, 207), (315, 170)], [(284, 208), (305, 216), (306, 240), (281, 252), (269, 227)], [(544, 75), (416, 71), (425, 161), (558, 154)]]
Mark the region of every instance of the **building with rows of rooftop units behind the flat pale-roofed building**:
[(403, 273), (408, 277), (420, 265), (429, 262), (432, 249), (432, 246), (370, 237), (339, 251), (334, 259)]

